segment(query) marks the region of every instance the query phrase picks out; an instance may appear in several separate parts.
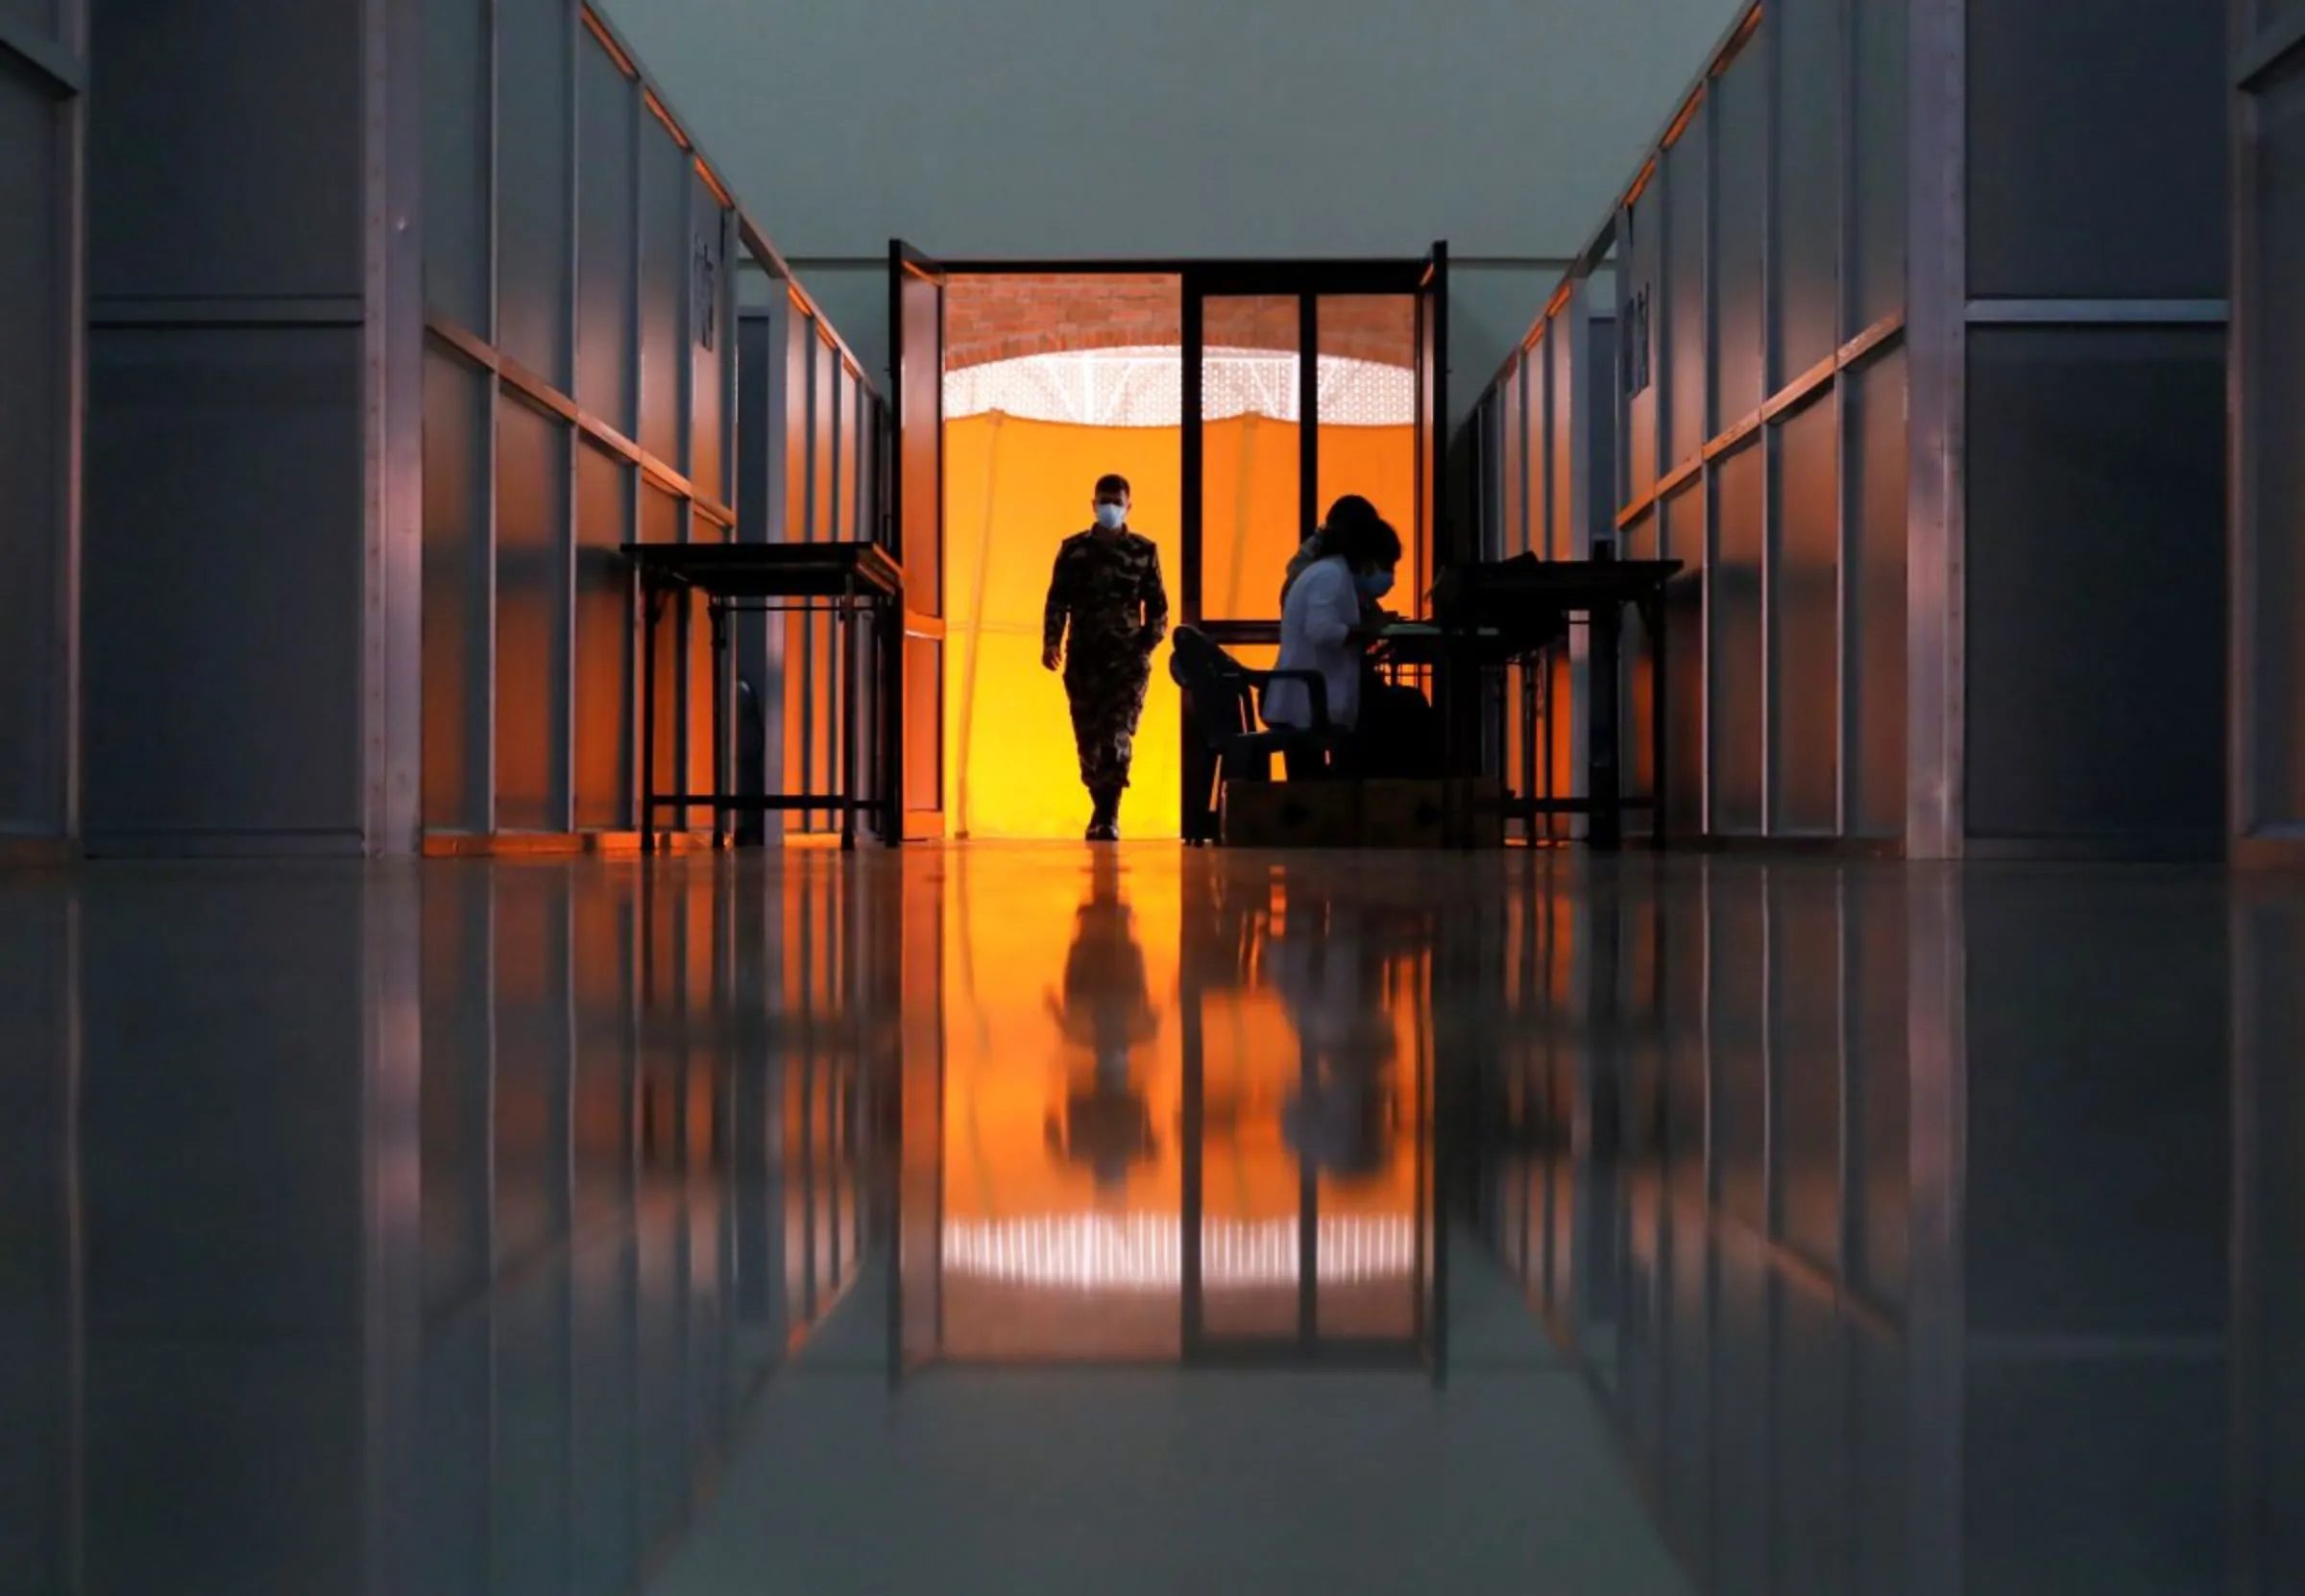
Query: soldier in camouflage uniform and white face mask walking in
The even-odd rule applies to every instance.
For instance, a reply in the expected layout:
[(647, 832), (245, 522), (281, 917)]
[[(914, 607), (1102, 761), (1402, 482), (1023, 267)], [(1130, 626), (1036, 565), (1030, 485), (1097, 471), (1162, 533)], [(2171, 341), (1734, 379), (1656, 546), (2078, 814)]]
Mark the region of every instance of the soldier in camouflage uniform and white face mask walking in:
[(1169, 595), (1159, 586), (1159, 549), (1129, 530), (1127, 477), (1099, 477), (1095, 510), (1097, 524), (1056, 551), (1040, 662), (1065, 669), (1081, 786), (1095, 805), (1088, 840), (1118, 842), (1152, 650), (1169, 634)]

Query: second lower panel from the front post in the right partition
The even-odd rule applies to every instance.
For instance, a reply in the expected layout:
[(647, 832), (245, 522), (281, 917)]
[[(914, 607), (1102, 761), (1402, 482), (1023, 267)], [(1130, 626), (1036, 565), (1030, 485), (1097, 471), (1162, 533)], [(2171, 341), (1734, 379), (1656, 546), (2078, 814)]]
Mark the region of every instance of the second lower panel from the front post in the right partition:
[(1775, 431), (1777, 547), (1770, 600), (1770, 754), (1775, 830), (1830, 837), (1839, 830), (1842, 743), (1842, 551), (1839, 413), (1819, 399)]

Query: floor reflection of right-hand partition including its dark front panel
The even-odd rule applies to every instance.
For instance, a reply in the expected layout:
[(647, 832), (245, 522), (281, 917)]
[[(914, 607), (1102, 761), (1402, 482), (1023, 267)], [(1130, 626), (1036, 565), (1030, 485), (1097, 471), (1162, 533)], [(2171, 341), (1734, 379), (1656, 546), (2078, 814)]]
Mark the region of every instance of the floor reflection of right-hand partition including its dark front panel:
[[(2116, 879), (1747, 865), (1540, 888), (1507, 920), (1507, 1001), (1547, 1019), (1489, 1084), (1489, 1234), (1692, 1584), (2210, 1587), (2231, 1116), (2201, 1042), (2224, 916)], [(2296, 916), (2266, 899), (2234, 934), (2243, 1151), (2270, 1151), (2293, 1093), (2266, 1068), (2298, 1024), (2266, 973), (2293, 966)], [(2194, 999), (2132, 1006), (2118, 1036), (2056, 1001), (2153, 983)], [(2268, 1492), (2296, 1478), (2264, 1340), (2293, 1324), (2266, 1268), (2291, 1165), (2245, 1158), (2238, 1188), (2259, 1268), (2238, 1462)], [(2243, 1499), (2266, 1566), (2291, 1557), (2275, 1499)]]

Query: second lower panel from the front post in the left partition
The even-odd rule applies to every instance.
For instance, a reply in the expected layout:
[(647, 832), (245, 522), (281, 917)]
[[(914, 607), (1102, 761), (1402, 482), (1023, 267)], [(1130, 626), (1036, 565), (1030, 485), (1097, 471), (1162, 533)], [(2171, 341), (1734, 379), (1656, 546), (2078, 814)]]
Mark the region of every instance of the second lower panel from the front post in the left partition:
[(496, 406), (496, 828), (562, 828), (569, 431)]

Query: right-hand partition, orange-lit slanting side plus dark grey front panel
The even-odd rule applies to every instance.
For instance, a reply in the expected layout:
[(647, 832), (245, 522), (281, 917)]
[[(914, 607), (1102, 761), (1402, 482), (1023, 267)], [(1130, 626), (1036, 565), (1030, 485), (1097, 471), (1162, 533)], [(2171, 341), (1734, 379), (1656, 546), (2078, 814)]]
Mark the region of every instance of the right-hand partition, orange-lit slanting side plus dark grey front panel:
[(1676, 833), (2213, 842), (2220, 18), (2132, 9), (1756, 7), (1484, 399), (1510, 551), (1531, 387), (1614, 265), (1600, 498), (1703, 637), (1625, 706), (1690, 729)]

